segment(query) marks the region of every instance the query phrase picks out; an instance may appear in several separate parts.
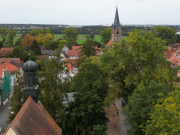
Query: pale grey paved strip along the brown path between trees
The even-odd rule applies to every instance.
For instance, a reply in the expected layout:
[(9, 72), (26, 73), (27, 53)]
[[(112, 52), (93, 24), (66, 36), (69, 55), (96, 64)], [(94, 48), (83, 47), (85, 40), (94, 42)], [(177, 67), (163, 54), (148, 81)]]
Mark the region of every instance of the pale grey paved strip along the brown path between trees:
[(124, 122), (124, 120), (126, 119), (126, 113), (124, 107), (122, 106), (122, 98), (116, 100), (116, 107), (118, 108), (118, 112), (119, 112), (122, 135), (127, 135), (127, 131), (131, 129), (131, 126), (130, 125), (126, 126)]

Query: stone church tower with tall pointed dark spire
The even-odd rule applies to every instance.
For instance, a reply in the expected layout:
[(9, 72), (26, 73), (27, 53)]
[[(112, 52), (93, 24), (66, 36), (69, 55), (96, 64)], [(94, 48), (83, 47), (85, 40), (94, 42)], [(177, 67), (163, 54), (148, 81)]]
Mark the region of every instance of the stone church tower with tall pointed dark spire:
[(112, 28), (112, 36), (111, 36), (111, 40), (112, 43), (119, 43), (122, 40), (122, 23), (120, 25), (120, 21), (119, 21), (119, 15), (118, 15), (118, 9), (116, 8), (116, 14), (115, 14), (115, 18), (114, 18), (114, 24), (112, 24), (111, 26)]

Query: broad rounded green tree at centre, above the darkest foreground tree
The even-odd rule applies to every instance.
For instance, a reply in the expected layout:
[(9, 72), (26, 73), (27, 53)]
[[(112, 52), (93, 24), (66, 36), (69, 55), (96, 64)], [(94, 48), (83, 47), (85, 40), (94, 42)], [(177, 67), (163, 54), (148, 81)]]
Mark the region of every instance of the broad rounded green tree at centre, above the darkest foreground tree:
[(109, 85), (96, 63), (85, 61), (79, 66), (79, 73), (72, 80), (72, 90), (76, 92), (93, 91), (104, 100)]

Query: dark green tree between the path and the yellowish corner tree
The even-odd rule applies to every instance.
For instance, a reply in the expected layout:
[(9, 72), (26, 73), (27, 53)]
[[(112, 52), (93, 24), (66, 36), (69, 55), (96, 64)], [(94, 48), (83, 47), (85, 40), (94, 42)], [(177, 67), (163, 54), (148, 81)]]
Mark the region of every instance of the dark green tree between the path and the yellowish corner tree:
[(149, 113), (154, 110), (159, 98), (166, 97), (171, 89), (167, 84), (151, 81), (147, 87), (134, 90), (126, 106), (127, 124), (132, 125), (130, 134), (144, 134), (147, 120), (150, 119)]

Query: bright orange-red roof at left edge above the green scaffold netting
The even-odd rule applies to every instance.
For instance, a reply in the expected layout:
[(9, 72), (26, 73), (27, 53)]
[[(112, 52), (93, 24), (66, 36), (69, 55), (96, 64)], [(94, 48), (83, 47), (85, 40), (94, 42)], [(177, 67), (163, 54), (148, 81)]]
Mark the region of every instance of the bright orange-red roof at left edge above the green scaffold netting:
[(8, 70), (8, 71), (16, 71), (18, 67), (6, 62), (0, 66), (0, 78), (2, 78), (3, 75), (3, 69)]

